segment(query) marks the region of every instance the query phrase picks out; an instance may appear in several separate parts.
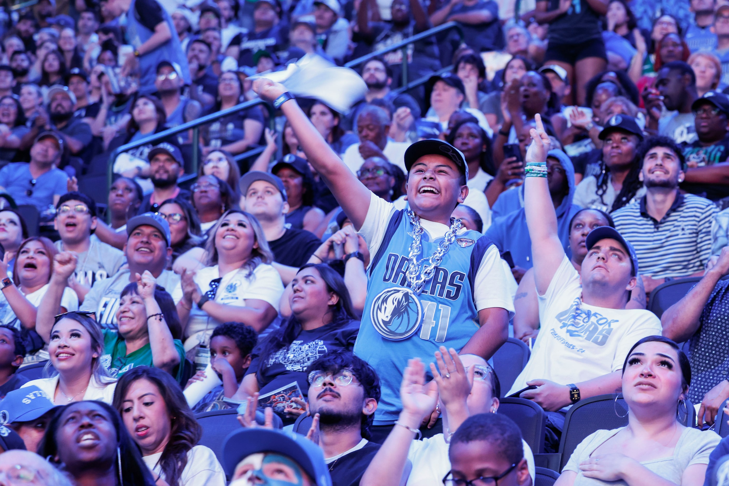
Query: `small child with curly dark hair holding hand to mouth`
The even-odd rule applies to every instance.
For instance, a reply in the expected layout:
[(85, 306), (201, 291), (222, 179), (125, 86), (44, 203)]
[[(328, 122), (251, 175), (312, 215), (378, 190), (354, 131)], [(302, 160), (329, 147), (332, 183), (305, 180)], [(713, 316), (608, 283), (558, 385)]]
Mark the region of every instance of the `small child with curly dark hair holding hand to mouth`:
[[(224, 322), (213, 330), (210, 338), (210, 365), (223, 384), (203, 396), (203, 399), (192, 409), (193, 412), (233, 408), (235, 404), (223, 401), (223, 399), (230, 398), (238, 391), (243, 375), (246, 374), (246, 369), (251, 364), (251, 351), (257, 340), (258, 337), (253, 328), (240, 322)], [(193, 380), (202, 380), (204, 377), (205, 372), (198, 371), (187, 382), (187, 386), (190, 386)]]

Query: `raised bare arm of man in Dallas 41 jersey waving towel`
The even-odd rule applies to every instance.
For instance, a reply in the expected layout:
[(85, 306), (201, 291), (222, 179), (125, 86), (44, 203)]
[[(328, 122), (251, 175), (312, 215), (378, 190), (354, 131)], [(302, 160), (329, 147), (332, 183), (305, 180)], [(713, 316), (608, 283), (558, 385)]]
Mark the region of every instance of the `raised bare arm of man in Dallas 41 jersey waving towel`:
[[(286, 93), (284, 85), (270, 81), (270, 79), (257, 79), (253, 83), (253, 90), (268, 101), (273, 101)], [(359, 231), (364, 224), (367, 210), (370, 208), (370, 189), (364, 187), (364, 184), (344, 165), (344, 162), (321, 137), (319, 130), (314, 128), (295, 100), (282, 104), (281, 111), (289, 120), (309, 163), (324, 179), (327, 187), (332, 190), (337, 202), (354, 224), (354, 228)]]

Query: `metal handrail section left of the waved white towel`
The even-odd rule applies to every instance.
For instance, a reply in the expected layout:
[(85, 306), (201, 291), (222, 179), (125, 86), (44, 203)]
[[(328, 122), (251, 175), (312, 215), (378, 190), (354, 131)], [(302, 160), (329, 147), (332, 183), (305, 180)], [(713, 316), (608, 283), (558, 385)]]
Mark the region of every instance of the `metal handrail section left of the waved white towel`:
[[(256, 105), (263, 105), (268, 110), (268, 122), (270, 125), (269, 128), (271, 130), (274, 130), (274, 118), (276, 116), (276, 112), (273, 110), (273, 106), (271, 106), (270, 103), (266, 103), (262, 99), (258, 98), (256, 100), (246, 101), (245, 103), (239, 103), (235, 106), (231, 106), (228, 109), (216, 111), (215, 113), (211, 113), (204, 117), (194, 119), (192, 120), (192, 122), (183, 123), (182, 125), (177, 125), (173, 128), (168, 128), (167, 130), (164, 130), (160, 133), (153, 133), (152, 135), (144, 137), (136, 142), (130, 142), (128, 144), (117, 147), (117, 149), (114, 149), (112, 154), (109, 155), (109, 168), (106, 171), (106, 181), (108, 184), (107, 188), (112, 187), (112, 181), (114, 179), (114, 161), (117, 160), (119, 154), (127, 152), (131, 149), (136, 149), (138, 146), (147, 145), (149, 144), (149, 142), (176, 135), (177, 133), (181, 133), (190, 129), (192, 129), (192, 167), (190, 168), (190, 173), (193, 175), (198, 173), (198, 159), (200, 158), (200, 125), (206, 125), (207, 123), (214, 122), (219, 118), (227, 117), (227, 115), (229, 114), (238, 113), (238, 111), (249, 109), (252, 106)], [(238, 154), (235, 156), (235, 160), (240, 161), (248, 157), (252, 157), (253, 155), (260, 154), (261, 152), (263, 152), (264, 148), (265, 147), (257, 147), (247, 152), (243, 152), (242, 154)]]

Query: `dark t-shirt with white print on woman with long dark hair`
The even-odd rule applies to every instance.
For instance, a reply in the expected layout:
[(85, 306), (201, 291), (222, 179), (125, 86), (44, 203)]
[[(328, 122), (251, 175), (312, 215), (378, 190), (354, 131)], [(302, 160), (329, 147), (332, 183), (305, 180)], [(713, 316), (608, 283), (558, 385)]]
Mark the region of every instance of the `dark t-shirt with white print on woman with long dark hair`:
[(264, 341), (253, 350), (254, 358), (246, 375), (256, 373), (261, 395), (297, 382), (301, 393), (306, 396), (309, 385), (305, 372), (309, 365), (330, 350), (354, 349), (358, 332), (359, 321), (332, 322), (311, 331), (301, 331), (288, 348), (271, 354), (262, 364), (260, 353), (267, 342)]

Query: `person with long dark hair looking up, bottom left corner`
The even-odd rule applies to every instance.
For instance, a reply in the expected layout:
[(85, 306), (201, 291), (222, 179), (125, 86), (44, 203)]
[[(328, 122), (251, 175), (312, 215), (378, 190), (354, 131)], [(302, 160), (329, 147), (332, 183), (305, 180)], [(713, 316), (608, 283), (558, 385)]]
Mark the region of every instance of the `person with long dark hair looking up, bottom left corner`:
[(38, 454), (63, 468), (77, 485), (155, 486), (119, 414), (103, 401), (60, 407)]

